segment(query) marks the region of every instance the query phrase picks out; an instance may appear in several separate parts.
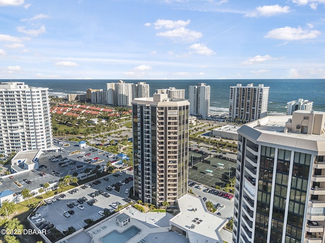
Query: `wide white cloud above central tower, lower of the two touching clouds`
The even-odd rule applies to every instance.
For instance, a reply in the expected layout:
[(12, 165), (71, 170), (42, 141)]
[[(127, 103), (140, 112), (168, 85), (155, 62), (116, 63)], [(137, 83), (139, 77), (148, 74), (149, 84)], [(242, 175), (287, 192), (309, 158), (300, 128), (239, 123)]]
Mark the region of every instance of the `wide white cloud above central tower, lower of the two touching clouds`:
[(182, 42), (193, 42), (203, 36), (201, 32), (186, 29), (184, 27), (180, 27), (180, 28), (173, 29), (173, 30), (168, 30), (165, 32), (158, 32), (158, 33), (156, 33), (156, 35), (170, 37), (175, 40), (180, 39), (180, 41), (182, 41)]

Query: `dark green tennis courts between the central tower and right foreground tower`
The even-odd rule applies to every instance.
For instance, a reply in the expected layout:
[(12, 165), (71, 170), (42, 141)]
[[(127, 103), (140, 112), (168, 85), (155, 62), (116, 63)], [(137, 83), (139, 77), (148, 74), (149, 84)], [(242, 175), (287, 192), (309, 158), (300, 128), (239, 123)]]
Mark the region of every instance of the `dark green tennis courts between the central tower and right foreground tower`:
[(228, 183), (230, 178), (236, 175), (236, 162), (217, 158), (207, 157), (203, 162), (193, 165), (193, 168), (188, 169), (188, 179), (199, 182), (204, 185), (221, 187)]

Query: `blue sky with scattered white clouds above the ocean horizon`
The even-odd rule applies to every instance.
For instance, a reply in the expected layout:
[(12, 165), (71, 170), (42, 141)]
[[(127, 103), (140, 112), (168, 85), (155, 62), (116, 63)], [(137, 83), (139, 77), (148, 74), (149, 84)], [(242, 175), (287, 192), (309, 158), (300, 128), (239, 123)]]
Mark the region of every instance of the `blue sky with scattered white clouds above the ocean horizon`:
[(325, 78), (324, 32), (324, 0), (0, 0), (0, 79)]

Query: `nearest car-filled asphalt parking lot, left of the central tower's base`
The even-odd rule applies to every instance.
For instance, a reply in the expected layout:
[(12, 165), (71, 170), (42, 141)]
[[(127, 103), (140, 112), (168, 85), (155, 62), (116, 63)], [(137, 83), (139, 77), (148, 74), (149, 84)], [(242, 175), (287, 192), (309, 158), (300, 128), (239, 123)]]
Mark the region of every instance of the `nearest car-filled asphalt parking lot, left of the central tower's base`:
[[(103, 211), (105, 208), (112, 209), (109, 205), (112, 205), (116, 201), (118, 201), (121, 205), (126, 204), (126, 202), (122, 199), (128, 196), (128, 193), (125, 193), (125, 190), (128, 189), (129, 191), (129, 188), (133, 186), (132, 181), (125, 185), (122, 185), (119, 192), (115, 190), (108, 191), (106, 189), (106, 187), (109, 185), (130, 177), (132, 172), (119, 174), (120, 176), (118, 177), (113, 176), (114, 174), (107, 176), (107, 178), (109, 178), (109, 181), (106, 181), (103, 178), (96, 179), (100, 180), (101, 183), (97, 185), (91, 183), (92, 186), (89, 188), (83, 187), (83, 189), (81, 186), (77, 187), (78, 191), (73, 194), (69, 193), (69, 191), (66, 191), (64, 192), (66, 197), (61, 198), (60, 200), (56, 200), (47, 206), (42, 206), (37, 213), (41, 214), (40, 218), (44, 218), (46, 221), (54, 224), (54, 227), (56, 227), (61, 232), (70, 226), (78, 230), (86, 225), (84, 222), (85, 219), (92, 219), (94, 221), (98, 220), (102, 217), (99, 214), (99, 211)], [(104, 192), (108, 192), (110, 196), (105, 197), (103, 195), (97, 195), (91, 197), (90, 194), (94, 193), (96, 190), (103, 190)], [(97, 202), (92, 206), (88, 205), (86, 202), (80, 204), (84, 207), (83, 210), (78, 209), (76, 206), (73, 208), (68, 208), (67, 204), (71, 204), (73, 201), (77, 202), (78, 198), (81, 198), (83, 196), (85, 196), (87, 200), (95, 198)], [(63, 212), (68, 210), (73, 210), (74, 214), (69, 214), (70, 216), (67, 218), (63, 216)], [(33, 222), (35, 222), (35, 220), (33, 220)]]

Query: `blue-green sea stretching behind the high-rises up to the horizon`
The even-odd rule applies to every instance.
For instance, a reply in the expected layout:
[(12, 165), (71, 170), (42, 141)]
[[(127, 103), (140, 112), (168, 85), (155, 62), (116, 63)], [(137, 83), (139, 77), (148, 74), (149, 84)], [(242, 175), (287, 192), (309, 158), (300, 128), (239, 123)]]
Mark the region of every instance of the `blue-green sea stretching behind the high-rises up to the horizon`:
[[(8, 82), (8, 79), (0, 82)], [(21, 79), (14, 81), (25, 82), (28, 86), (49, 88), (50, 94), (67, 95), (86, 93), (88, 88), (106, 89), (106, 83), (117, 83), (117, 79)], [(198, 83), (211, 86), (211, 112), (228, 112), (230, 86), (253, 83), (254, 86), (264, 84), (270, 87), (268, 111), (272, 113), (286, 113), (286, 103), (303, 98), (313, 101), (314, 110), (325, 111), (325, 79), (200, 79), (200, 80), (124, 80), (126, 83), (145, 81), (150, 85), (150, 94), (156, 89), (175, 87), (185, 89), (188, 98), (188, 87)]]

